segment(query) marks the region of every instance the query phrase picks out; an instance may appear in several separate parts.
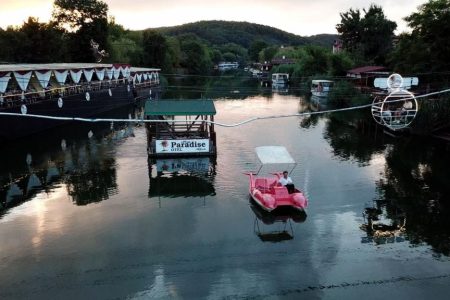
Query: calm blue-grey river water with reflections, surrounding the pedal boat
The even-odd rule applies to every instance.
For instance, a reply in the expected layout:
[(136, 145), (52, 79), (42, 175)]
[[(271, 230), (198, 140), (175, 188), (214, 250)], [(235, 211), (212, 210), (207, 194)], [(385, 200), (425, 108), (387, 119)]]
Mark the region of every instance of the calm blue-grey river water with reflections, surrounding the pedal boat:
[[(223, 123), (318, 109), (238, 90), (215, 105)], [(216, 132), (217, 159), (181, 166), (147, 159), (143, 126), (79, 124), (2, 147), (0, 298), (447, 299), (445, 144), (392, 138), (364, 112)], [(249, 201), (243, 172), (262, 145), (298, 162), (306, 216)]]

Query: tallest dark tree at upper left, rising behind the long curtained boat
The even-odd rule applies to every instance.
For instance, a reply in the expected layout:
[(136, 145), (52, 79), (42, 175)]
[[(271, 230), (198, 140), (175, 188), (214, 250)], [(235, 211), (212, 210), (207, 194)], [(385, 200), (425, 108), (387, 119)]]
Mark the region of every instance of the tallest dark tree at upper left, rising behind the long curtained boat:
[(100, 0), (55, 0), (52, 18), (68, 31), (72, 61), (93, 62), (90, 41), (109, 51), (108, 5)]

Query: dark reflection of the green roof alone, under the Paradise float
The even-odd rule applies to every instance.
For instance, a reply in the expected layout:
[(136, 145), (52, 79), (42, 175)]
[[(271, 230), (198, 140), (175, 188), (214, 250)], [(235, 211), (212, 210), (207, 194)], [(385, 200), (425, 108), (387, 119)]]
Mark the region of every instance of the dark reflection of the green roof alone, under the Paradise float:
[(148, 196), (205, 197), (214, 193), (214, 186), (207, 178), (173, 175), (173, 177), (150, 177)]

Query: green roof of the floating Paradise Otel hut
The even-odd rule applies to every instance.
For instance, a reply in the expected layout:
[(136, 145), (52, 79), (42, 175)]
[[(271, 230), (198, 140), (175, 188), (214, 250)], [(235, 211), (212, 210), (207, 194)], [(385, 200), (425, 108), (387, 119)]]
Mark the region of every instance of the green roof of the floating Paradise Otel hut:
[(148, 100), (145, 116), (198, 116), (215, 115), (216, 107), (211, 99), (197, 100)]

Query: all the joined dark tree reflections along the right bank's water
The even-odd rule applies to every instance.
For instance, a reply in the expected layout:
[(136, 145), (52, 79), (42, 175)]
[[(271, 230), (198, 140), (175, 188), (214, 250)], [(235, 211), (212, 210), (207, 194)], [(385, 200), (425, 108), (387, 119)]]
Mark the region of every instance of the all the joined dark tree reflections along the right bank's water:
[[(384, 171), (376, 182), (376, 215), (366, 212), (363, 242), (401, 241), (404, 237), (411, 244), (427, 243), (435, 252), (450, 255), (448, 146), (417, 136), (394, 139), (367, 121), (370, 118), (365, 114), (333, 114), (324, 132), (334, 155), (342, 160), (370, 165), (383, 158)], [(401, 212), (401, 218), (393, 212)], [(392, 227), (384, 228), (386, 236), (377, 233), (380, 228), (371, 228), (375, 217), (384, 218), (384, 225)], [(406, 226), (402, 218), (408, 220)], [(382, 239), (376, 241), (377, 235)]]

